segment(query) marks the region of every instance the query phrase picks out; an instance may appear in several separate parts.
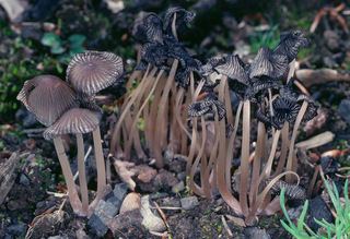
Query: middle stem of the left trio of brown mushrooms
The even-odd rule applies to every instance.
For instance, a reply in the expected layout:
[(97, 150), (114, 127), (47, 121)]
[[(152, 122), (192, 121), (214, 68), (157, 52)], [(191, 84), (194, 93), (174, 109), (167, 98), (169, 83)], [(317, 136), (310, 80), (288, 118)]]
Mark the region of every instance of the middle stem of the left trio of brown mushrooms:
[(79, 184), (80, 194), (82, 201), (83, 212), (88, 215), (89, 210), (89, 192), (86, 182), (86, 172), (84, 164), (84, 140), (81, 133), (77, 133), (77, 146), (78, 146), (78, 171), (79, 171)]

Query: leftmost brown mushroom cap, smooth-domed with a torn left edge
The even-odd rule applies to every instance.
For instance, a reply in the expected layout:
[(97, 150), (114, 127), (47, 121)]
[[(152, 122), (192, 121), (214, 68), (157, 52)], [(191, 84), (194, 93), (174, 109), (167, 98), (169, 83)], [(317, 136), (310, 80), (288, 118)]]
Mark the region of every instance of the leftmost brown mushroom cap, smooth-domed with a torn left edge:
[(73, 89), (55, 75), (39, 75), (26, 81), (16, 98), (46, 127), (77, 105)]

